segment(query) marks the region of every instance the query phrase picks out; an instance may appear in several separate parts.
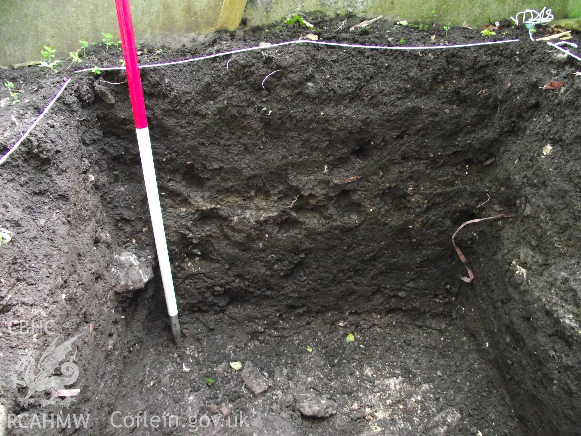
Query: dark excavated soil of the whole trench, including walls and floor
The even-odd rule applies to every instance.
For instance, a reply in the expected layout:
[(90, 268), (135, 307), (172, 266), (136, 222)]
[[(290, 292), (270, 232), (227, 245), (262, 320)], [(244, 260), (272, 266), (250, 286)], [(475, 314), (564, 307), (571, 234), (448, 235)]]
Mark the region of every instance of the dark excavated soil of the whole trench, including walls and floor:
[[(356, 18), (338, 31), (342, 20), (309, 21), (325, 41), (489, 40), (436, 25), (353, 33)], [(115, 411), (187, 420), (220, 416), (222, 405), (249, 428), (199, 434), (577, 434), (581, 65), (503, 24), (493, 38), (521, 42), (286, 45), (142, 70), (180, 348), (159, 278), (121, 284), (121, 254), (155, 261), (127, 85), (98, 83), (124, 74), (67, 73), (60, 101), (0, 167), (0, 227), (15, 233), (0, 246), (8, 413), (60, 410), (24, 409), (26, 389), (9, 380), (19, 349), (53, 339), (13, 335), (13, 320), (54, 319), (66, 338), (92, 326), (77, 341), (81, 392), (65, 411), (91, 413), (81, 434), (161, 431), (114, 428)], [(216, 34), (163, 53), (142, 47), (140, 62), (307, 33)], [(62, 77), (0, 72), (24, 88), (19, 105), (0, 108), (3, 144)], [(549, 80), (564, 86), (544, 90)], [(458, 234), (476, 274), (462, 282), (451, 235), (501, 213), (512, 217)], [(252, 362), (246, 374), (236, 360)], [(250, 366), (269, 386), (260, 396)], [(330, 417), (305, 416), (322, 405)]]

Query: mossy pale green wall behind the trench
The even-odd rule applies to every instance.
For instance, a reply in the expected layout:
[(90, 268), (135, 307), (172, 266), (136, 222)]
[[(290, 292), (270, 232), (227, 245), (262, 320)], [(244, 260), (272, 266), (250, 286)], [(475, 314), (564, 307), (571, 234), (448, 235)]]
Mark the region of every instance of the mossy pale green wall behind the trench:
[[(221, 0), (132, 0), (137, 40), (164, 40), (214, 30)], [(460, 25), (482, 24), (515, 15), (526, 8), (540, 10), (529, 0), (248, 0), (249, 25), (268, 25), (295, 12), (329, 15), (357, 13), (393, 19), (434, 20)], [(555, 18), (581, 16), (581, 0), (554, 0)], [(430, 11), (435, 10), (435, 17)], [(43, 45), (56, 48), (57, 59), (79, 47), (78, 40), (101, 41), (101, 32), (119, 35), (113, 0), (0, 0), (0, 65), (39, 60)], [(117, 38), (119, 40), (119, 38)]]

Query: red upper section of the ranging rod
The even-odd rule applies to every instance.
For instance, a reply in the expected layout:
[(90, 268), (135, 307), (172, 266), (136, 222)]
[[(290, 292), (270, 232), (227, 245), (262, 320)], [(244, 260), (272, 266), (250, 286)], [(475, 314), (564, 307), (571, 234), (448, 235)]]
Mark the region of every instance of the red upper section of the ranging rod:
[(123, 58), (127, 69), (127, 83), (129, 85), (135, 128), (144, 128), (147, 127), (147, 116), (145, 115), (144, 91), (141, 88), (141, 76), (139, 76), (137, 64), (137, 47), (135, 47), (129, 0), (115, 0), (115, 6), (117, 8), (121, 47), (123, 48)]

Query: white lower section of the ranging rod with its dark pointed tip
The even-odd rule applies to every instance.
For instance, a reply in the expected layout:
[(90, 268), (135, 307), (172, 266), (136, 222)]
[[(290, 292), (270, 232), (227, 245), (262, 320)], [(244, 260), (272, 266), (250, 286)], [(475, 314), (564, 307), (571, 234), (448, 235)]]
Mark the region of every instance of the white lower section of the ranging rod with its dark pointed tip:
[(136, 128), (137, 144), (141, 156), (141, 167), (144, 171), (145, 192), (149, 204), (149, 214), (153, 227), (153, 237), (157, 250), (157, 262), (162, 273), (163, 292), (166, 295), (167, 313), (170, 315), (171, 330), (174, 333), (175, 343), (181, 339), (180, 322), (178, 321), (178, 305), (175, 301), (174, 282), (171, 278), (170, 256), (167, 253), (166, 232), (163, 228), (162, 206), (159, 202), (153, 153), (149, 138), (149, 127)]

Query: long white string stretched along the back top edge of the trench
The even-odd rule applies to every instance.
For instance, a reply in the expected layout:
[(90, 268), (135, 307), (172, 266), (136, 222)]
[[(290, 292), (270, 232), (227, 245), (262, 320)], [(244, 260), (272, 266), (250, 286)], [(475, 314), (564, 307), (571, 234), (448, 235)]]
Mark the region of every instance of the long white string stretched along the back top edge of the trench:
[[(386, 49), (386, 50), (436, 50), (442, 48), (462, 48), (462, 47), (476, 47), (479, 45), (493, 45), (493, 44), (504, 44), (505, 42), (518, 42), (520, 40), (504, 40), (504, 41), (486, 41), (486, 42), (471, 42), (469, 44), (454, 44), (454, 45), (428, 45), (428, 46), (418, 46), (418, 47), (388, 47), (385, 45), (361, 45), (361, 44), (345, 44), (343, 42), (327, 42), (327, 41), (311, 41), (311, 40), (295, 40), (295, 41), (285, 41), (277, 42), (270, 45), (259, 45), (258, 47), (248, 47), (239, 48), (237, 50), (231, 50), (223, 53), (214, 53), (213, 55), (200, 56), (199, 58), (191, 58), (184, 60), (174, 60), (173, 62), (164, 63), (150, 63), (146, 65), (139, 65), (139, 68), (152, 68), (152, 67), (163, 67), (167, 65), (178, 65), (180, 63), (193, 62), (195, 60), (204, 60), (217, 58), (218, 56), (233, 55), (235, 53), (249, 52), (253, 50), (264, 50), (267, 48), (281, 47), (282, 45), (288, 44), (321, 44), (321, 45), (332, 45), (335, 47), (346, 47), (346, 48), (370, 48), (370, 49)], [(111, 71), (111, 70), (124, 70), (125, 67), (102, 67), (99, 68), (101, 71)], [(75, 73), (82, 73), (86, 71), (91, 71), (91, 68), (85, 68), (82, 70), (76, 70)]]

